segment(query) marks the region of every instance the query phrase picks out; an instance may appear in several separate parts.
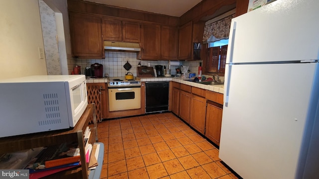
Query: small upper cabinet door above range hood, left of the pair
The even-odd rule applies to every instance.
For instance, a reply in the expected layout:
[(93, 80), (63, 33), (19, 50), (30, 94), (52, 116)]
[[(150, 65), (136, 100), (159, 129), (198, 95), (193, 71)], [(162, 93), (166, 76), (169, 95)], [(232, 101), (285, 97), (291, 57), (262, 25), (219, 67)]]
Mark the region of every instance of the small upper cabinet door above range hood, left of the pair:
[(122, 41), (122, 21), (113, 18), (102, 19), (103, 40)]

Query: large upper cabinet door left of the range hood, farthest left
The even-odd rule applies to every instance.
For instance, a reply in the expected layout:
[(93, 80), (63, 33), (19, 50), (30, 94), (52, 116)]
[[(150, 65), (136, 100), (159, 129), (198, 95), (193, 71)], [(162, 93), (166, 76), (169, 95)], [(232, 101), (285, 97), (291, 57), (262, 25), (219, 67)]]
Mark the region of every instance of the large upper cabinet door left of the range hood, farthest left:
[(70, 12), (72, 55), (82, 58), (104, 58), (101, 18)]

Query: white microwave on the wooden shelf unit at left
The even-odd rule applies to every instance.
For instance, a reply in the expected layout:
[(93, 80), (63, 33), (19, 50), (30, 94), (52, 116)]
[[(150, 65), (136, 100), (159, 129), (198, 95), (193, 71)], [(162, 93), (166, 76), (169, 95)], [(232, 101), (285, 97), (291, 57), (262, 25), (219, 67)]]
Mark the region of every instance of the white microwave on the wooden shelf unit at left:
[(84, 75), (0, 81), (0, 137), (74, 127), (88, 105)]

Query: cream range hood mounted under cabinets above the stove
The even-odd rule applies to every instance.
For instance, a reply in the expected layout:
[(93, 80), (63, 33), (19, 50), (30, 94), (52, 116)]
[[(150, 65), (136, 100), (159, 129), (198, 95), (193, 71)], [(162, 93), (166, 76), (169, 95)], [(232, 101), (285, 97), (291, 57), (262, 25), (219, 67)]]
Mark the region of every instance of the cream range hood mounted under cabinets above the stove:
[(112, 42), (112, 41), (104, 41), (104, 49), (105, 50), (123, 50), (123, 51), (136, 51), (140, 52), (140, 44), (139, 43), (128, 43), (128, 42)]

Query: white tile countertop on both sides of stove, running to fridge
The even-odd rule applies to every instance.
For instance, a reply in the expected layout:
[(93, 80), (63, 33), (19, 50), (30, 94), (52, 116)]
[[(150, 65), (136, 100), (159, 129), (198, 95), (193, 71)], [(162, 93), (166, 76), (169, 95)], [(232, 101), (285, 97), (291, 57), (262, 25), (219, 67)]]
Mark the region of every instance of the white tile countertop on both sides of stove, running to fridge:
[[(141, 82), (167, 82), (173, 81), (185, 85), (189, 85), (192, 87), (197, 87), (200, 89), (207, 89), (214, 92), (224, 93), (224, 85), (203, 85), (194, 82), (188, 82), (185, 80), (190, 80), (189, 78), (179, 78), (179, 77), (147, 77), (147, 78), (140, 78), (136, 77), (137, 79), (141, 80)], [(88, 78), (86, 79), (86, 83), (108, 83), (108, 78)]]

